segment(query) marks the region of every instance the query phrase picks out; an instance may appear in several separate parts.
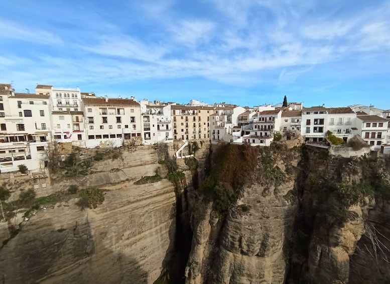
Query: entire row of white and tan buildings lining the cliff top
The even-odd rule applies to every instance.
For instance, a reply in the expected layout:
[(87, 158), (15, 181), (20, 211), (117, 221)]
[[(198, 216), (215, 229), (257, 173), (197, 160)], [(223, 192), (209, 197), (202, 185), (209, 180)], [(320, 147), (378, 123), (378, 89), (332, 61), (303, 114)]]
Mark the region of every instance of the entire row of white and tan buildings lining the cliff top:
[(78, 88), (40, 84), (34, 93), (18, 93), (10, 84), (0, 84), (0, 171), (17, 170), (20, 164), (44, 168), (45, 151), (53, 141), (82, 148), (194, 139), (269, 146), (276, 131), (321, 142), (329, 130), (344, 141), (359, 135), (379, 149), (390, 141), (389, 119), (388, 111), (362, 105), (249, 108), (195, 100), (179, 105), (99, 98)]

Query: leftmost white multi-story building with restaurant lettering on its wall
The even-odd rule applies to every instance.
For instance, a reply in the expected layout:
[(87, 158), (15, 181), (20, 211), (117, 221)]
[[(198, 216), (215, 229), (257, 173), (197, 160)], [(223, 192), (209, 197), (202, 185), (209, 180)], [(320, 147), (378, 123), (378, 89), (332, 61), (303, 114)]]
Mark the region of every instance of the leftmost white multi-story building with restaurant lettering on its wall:
[[(0, 172), (45, 167), (50, 140), (50, 102), (47, 94), (15, 93), (10, 84), (0, 85)], [(4, 112), (3, 112), (4, 111)]]

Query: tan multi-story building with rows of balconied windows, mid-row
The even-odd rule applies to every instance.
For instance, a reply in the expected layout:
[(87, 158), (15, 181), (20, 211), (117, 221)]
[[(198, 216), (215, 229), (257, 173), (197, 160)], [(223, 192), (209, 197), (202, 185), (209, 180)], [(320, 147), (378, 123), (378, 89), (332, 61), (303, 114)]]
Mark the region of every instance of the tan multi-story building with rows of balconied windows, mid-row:
[(213, 107), (171, 105), (174, 140), (210, 139)]

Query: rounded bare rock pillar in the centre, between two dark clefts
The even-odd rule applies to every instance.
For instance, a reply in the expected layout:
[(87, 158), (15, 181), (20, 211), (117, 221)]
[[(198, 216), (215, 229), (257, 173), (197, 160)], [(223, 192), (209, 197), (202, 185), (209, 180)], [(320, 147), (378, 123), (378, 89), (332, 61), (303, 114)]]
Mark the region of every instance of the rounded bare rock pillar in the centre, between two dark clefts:
[[(278, 167), (297, 166), (300, 155), (292, 153), (283, 161), (274, 152)], [(263, 169), (259, 160), (256, 170)], [(203, 220), (193, 220), (192, 251), (186, 268), (186, 283), (278, 283), (288, 268), (286, 245), (297, 212), (294, 190), (297, 171), (283, 182), (256, 180), (256, 172), (240, 191), (225, 216), (209, 204)]]

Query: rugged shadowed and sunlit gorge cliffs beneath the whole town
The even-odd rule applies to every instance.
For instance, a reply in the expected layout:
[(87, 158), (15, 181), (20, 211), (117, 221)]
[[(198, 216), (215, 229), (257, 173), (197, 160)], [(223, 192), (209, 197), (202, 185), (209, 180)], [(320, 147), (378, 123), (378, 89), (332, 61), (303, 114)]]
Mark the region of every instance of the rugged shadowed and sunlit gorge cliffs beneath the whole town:
[[(27, 218), (29, 208), (10, 209), (0, 223), (3, 283), (390, 279), (388, 156), (342, 158), (300, 140), (198, 143), (194, 157), (172, 158), (174, 144), (138, 146), (92, 159), (87, 174), (51, 175), (37, 198), (59, 200)], [(4, 178), (6, 203), (35, 183)], [(80, 208), (71, 184), (103, 189), (104, 201)]]

